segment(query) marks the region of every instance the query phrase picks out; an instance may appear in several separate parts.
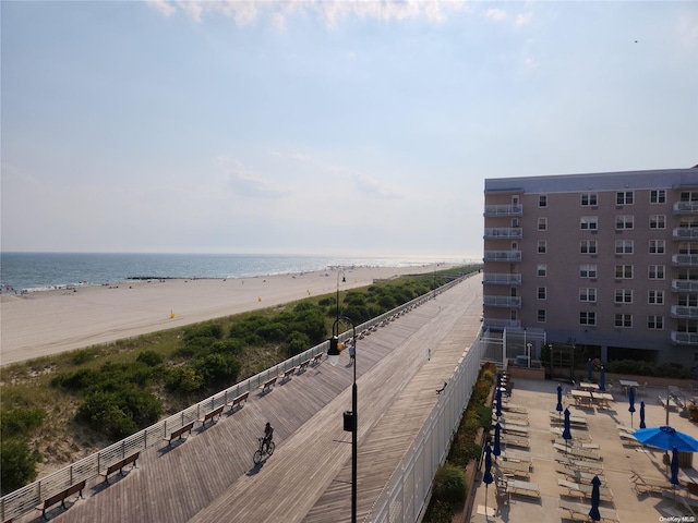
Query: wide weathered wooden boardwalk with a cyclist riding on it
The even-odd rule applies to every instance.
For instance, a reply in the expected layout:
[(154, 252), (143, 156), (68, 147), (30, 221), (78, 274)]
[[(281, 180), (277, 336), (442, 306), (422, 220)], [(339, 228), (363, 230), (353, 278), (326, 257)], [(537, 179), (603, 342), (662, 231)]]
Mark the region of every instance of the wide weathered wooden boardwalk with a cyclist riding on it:
[[(480, 328), (482, 285), (469, 278), (357, 343), (361, 521), (401, 462)], [(431, 360), (428, 360), (431, 349)], [(276, 385), (181, 443), (141, 454), (111, 485), (88, 485), (57, 522), (341, 522), (350, 520), (351, 434), (348, 354)], [(253, 466), (264, 424), (276, 452)], [(38, 519), (40, 514), (33, 514)], [(32, 521), (32, 520), (24, 520)]]

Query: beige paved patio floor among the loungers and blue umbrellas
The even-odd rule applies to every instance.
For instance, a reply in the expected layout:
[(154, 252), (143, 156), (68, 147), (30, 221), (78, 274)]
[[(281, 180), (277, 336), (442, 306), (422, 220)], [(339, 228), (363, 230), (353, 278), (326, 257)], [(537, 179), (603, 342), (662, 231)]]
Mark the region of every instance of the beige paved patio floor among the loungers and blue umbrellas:
[[(529, 441), (530, 451), (525, 449), (514, 449), (517, 452), (531, 458), (533, 471), (529, 482), (539, 486), (540, 499), (527, 498), (514, 495), (509, 504), (505, 506), (496, 500), (494, 484), (485, 489), (485, 485), (479, 483), (477, 486), (476, 501), (472, 510), (472, 522), (547, 522), (567, 521), (566, 513), (558, 509), (558, 500), (582, 503), (587, 507), (588, 513), (591, 508), (589, 500), (565, 496), (566, 489), (557, 485), (557, 479), (564, 478), (563, 474), (556, 472), (555, 459), (561, 455), (553, 448), (552, 440), (555, 435), (551, 434), (550, 411), (555, 410), (557, 401), (557, 382), (534, 381), (526, 379), (515, 379), (510, 402), (522, 405), (528, 410), (529, 419)], [(569, 386), (567, 386), (569, 388)], [(646, 402), (646, 423), (648, 427), (661, 426), (665, 424), (665, 411), (658, 404), (657, 397), (666, 396), (665, 389), (647, 389), (647, 396), (636, 398), (636, 409), (633, 417), (633, 426), (638, 428), (640, 401)], [(649, 448), (633, 448), (623, 446), (618, 436), (618, 424), (630, 427), (630, 413), (628, 412), (627, 397), (619, 390), (613, 392), (615, 401), (610, 409), (577, 409), (569, 406), (573, 415), (575, 413), (587, 416), (588, 435), (592, 443), (599, 446), (598, 452), (602, 457), (603, 475), (607, 481), (607, 486), (613, 494), (613, 502), (602, 502), (601, 507), (612, 509), (623, 523), (658, 523), (661, 521), (675, 521), (676, 523), (689, 523), (693, 519), (681, 519), (689, 516), (688, 510), (675, 504), (671, 499), (664, 499), (658, 495), (637, 495), (633, 490), (630, 483), (631, 470), (647, 478), (654, 478), (660, 482), (666, 479), (666, 466), (662, 462), (663, 451), (651, 450)], [(565, 399), (566, 404), (569, 400)], [(506, 413), (505, 413), (506, 414)], [(676, 411), (670, 412), (670, 425), (677, 430), (698, 437), (698, 427), (688, 419), (679, 417)], [(571, 430), (573, 437), (578, 437), (582, 433)], [(698, 459), (698, 455), (694, 455)], [(682, 471), (679, 478), (690, 475), (698, 482), (696, 461), (694, 467)], [(494, 509), (491, 516), (485, 516), (485, 492), (486, 507)], [(694, 496), (694, 500), (697, 498)], [(697, 510), (698, 511), (698, 510)], [(664, 518), (664, 519), (662, 519)], [(671, 519), (678, 518), (678, 519)], [(698, 520), (695, 520), (698, 521)]]

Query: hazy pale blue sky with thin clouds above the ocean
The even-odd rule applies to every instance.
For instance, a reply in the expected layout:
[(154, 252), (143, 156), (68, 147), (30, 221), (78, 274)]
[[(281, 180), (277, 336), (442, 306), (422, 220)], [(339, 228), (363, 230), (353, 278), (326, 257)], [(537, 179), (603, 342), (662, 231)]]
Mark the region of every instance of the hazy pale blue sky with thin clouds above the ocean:
[(4, 1), (3, 252), (482, 252), (489, 178), (698, 163), (698, 2)]

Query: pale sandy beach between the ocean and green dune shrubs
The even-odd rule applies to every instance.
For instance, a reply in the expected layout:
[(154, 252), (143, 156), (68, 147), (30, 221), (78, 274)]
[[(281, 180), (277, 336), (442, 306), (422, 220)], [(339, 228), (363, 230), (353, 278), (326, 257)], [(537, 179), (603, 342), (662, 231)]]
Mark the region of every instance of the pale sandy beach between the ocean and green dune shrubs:
[[(444, 269), (440, 265), (438, 269)], [(163, 329), (428, 273), (421, 267), (361, 267), (240, 279), (154, 280), (110, 287), (2, 294), (0, 365)], [(173, 317), (172, 317), (173, 315)]]

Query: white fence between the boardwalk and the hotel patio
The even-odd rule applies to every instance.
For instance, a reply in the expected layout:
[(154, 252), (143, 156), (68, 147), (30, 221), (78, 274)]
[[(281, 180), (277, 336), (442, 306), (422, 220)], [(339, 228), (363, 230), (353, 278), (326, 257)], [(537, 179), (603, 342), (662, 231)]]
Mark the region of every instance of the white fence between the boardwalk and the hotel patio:
[(438, 465), (446, 459), (450, 440), (478, 380), (488, 341), (478, 335), (448, 381), (448, 387), (424, 422), (414, 441), (393, 473), (364, 523), (418, 521), (429, 499)]

